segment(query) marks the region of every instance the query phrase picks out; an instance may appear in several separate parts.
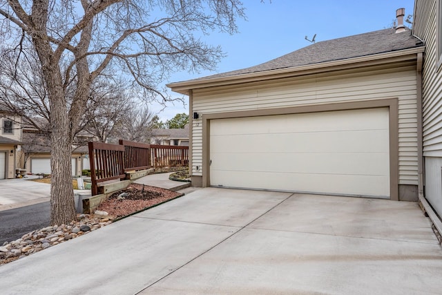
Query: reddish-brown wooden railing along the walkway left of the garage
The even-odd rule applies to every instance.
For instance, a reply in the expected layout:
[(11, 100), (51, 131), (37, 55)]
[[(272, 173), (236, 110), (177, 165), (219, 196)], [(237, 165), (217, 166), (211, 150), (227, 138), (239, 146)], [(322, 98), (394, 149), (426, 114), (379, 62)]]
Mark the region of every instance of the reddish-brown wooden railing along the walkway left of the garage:
[(98, 194), (98, 184), (108, 180), (123, 180), (125, 172), (165, 166), (189, 165), (189, 146), (163, 146), (119, 140), (119, 144), (89, 142), (92, 195)]

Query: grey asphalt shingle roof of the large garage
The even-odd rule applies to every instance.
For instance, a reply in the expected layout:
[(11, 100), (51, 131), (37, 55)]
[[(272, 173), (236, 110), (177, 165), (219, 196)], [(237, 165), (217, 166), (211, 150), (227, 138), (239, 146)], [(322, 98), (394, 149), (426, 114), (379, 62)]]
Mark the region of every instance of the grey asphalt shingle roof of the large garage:
[(394, 28), (388, 28), (360, 35), (320, 41), (258, 66), (189, 80), (189, 82), (320, 64), (327, 61), (389, 53), (421, 46), (424, 46), (421, 40), (413, 37), (410, 30), (407, 29), (405, 32), (396, 33)]

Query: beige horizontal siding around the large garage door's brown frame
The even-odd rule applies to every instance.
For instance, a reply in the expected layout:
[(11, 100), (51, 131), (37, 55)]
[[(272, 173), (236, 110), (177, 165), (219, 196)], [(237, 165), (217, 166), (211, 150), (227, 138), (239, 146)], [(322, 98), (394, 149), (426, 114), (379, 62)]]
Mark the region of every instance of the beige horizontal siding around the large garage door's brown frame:
[[(365, 73), (347, 71), (198, 89), (193, 91), (193, 111), (204, 115), (392, 97), (398, 97), (399, 184), (417, 184), (416, 67), (412, 64)], [(192, 166), (193, 175), (202, 175), (201, 120), (193, 121)]]

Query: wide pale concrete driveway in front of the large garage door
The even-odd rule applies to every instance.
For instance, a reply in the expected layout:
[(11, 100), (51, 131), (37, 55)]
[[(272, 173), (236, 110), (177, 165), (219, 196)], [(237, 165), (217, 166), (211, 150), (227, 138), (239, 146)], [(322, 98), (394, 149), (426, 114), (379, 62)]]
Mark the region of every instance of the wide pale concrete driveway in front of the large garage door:
[(0, 267), (5, 294), (440, 294), (414, 202), (207, 188)]

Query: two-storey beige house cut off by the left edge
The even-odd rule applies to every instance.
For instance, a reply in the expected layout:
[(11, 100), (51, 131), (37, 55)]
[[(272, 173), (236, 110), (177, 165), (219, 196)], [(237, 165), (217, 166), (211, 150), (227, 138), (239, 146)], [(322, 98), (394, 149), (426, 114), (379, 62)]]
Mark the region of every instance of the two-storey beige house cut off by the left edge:
[(0, 110), (0, 180), (15, 178), (21, 149), (21, 120)]

